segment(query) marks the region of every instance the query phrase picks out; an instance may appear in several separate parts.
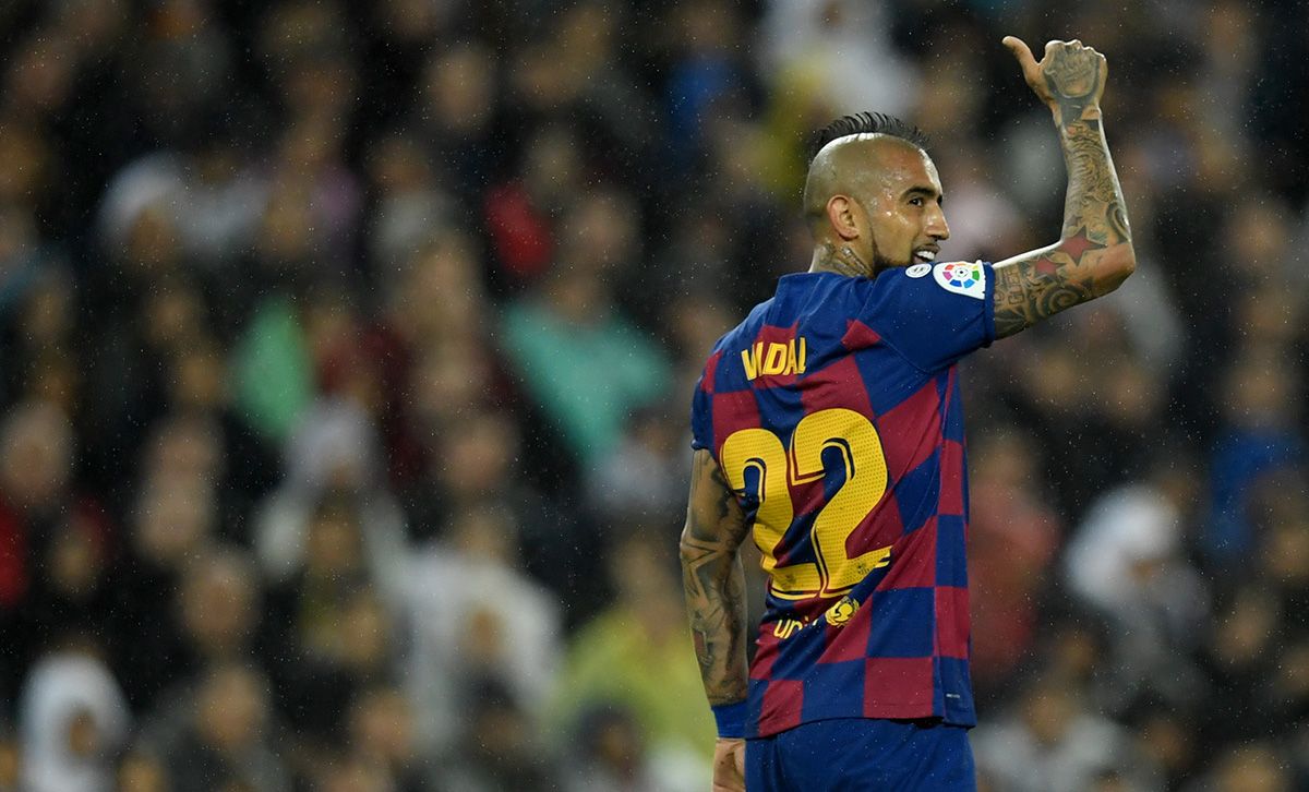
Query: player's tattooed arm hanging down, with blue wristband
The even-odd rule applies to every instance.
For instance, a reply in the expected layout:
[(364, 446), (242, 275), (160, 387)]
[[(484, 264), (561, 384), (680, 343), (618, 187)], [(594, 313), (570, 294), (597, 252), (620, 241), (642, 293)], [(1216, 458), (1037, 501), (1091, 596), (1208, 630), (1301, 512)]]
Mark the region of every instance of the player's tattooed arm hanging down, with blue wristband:
[(682, 529), (682, 581), (704, 693), (719, 716), (713, 789), (745, 789), (745, 741), (724, 720), (744, 717), (746, 695), (745, 569), (738, 550), (745, 512), (707, 450), (695, 452)]

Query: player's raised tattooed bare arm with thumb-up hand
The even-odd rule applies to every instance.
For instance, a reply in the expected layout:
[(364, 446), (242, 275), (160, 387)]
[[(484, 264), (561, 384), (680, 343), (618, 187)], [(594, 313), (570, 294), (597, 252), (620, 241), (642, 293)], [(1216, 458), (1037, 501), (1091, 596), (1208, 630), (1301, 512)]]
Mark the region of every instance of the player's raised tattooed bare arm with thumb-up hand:
[(995, 266), (995, 333), (1013, 335), (1118, 288), (1136, 268), (1123, 191), (1101, 130), (1105, 56), (1079, 41), (1050, 42), (1037, 63), (1021, 39), (1005, 46), (1054, 113), (1068, 169), (1059, 242)]

